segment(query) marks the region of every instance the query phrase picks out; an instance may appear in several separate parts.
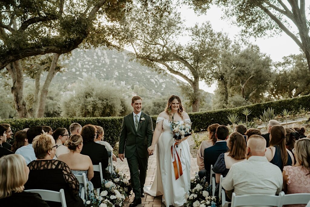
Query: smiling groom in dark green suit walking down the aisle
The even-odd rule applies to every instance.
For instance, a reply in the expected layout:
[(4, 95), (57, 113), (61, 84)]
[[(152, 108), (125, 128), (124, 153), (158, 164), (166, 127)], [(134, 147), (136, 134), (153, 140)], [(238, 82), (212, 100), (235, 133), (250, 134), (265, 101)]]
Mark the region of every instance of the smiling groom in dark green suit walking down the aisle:
[(141, 203), (141, 197), (144, 197), (143, 186), (148, 169), (148, 147), (152, 143), (153, 123), (152, 118), (141, 111), (141, 97), (132, 97), (131, 106), (133, 112), (123, 118), (118, 157), (123, 161), (125, 150), (131, 187), (135, 193), (135, 199), (129, 206), (135, 207)]

